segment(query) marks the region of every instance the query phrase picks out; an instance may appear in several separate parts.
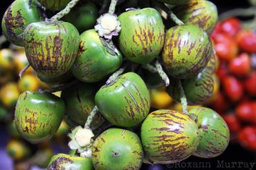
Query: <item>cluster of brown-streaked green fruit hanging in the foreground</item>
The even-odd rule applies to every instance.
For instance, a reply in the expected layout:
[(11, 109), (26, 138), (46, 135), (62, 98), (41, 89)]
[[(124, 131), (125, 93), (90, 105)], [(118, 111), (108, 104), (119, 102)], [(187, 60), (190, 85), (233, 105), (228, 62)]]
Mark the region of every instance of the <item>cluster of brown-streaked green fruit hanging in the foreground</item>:
[[(191, 155), (219, 156), (229, 142), (221, 116), (205, 107), (183, 113), (150, 110), (149, 97), (152, 83), (156, 88), (165, 82), (170, 96), (184, 106), (186, 101), (199, 105), (210, 98), (216, 65), (209, 38), (217, 23), (214, 4), (205, 0), (120, 1), (117, 7), (129, 10), (118, 10), (116, 17), (111, 10), (118, 1), (112, 0), (109, 15), (103, 14), (95, 29), (90, 29), (98, 17), (97, 6), (81, 1), (71, 9), (76, 2), (16, 0), (2, 21), (6, 39), (24, 45), (37, 76), (52, 87), (63, 88), (61, 97), (24, 92), (15, 109), (17, 130), (32, 143), (51, 138), (63, 118), (75, 127), (69, 145), (78, 150), (54, 156), (48, 169), (140, 169), (143, 162), (167, 164)], [(60, 13), (43, 21), (42, 16), (51, 17), (51, 11), (58, 10), (71, 12), (63, 21), (57, 21)], [(112, 36), (117, 38), (109, 40)], [(121, 72), (118, 69), (126, 73), (116, 76)], [(147, 84), (147, 78), (154, 81)], [(115, 127), (105, 130), (106, 124)], [(99, 135), (84, 135), (88, 129)]]

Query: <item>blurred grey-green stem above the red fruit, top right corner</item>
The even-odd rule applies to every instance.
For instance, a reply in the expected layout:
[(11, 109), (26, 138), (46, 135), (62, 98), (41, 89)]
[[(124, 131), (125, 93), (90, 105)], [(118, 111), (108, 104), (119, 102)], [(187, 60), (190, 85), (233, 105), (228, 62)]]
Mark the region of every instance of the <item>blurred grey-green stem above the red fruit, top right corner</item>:
[(255, 7), (250, 8), (237, 8), (234, 10), (228, 10), (227, 12), (223, 12), (219, 15), (219, 21), (223, 21), (224, 19), (228, 19), (229, 17), (250, 17), (255, 14)]

